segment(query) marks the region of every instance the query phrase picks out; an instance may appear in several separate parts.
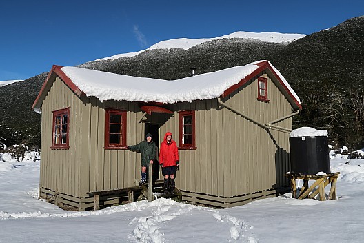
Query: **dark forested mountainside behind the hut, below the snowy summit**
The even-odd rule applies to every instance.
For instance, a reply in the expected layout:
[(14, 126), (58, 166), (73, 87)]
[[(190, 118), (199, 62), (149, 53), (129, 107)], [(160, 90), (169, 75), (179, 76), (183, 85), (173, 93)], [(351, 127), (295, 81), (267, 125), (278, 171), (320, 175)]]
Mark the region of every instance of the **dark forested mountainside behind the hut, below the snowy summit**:
[[(328, 30), (291, 43), (215, 39), (187, 50), (146, 50), (133, 57), (79, 65), (105, 72), (156, 79), (180, 79), (269, 60), (299, 95), (303, 110), (293, 126), (326, 129), (334, 146), (363, 147), (364, 17), (348, 19)], [(39, 144), (41, 116), (30, 107), (47, 73), (0, 87), (0, 142)], [(19, 95), (22, 94), (22, 95)]]

